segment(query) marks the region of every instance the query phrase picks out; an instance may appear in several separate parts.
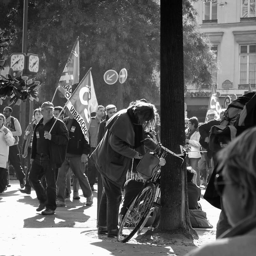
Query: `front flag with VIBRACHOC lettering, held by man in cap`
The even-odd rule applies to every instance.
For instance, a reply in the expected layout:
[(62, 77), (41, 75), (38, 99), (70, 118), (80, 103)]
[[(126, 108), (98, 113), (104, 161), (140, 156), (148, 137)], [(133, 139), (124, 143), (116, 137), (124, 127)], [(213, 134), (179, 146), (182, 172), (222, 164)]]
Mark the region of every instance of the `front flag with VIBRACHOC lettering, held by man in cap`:
[(85, 138), (88, 140), (86, 134), (90, 122), (90, 114), (95, 112), (98, 106), (92, 81), (91, 68), (82, 81), (77, 85), (76, 90), (68, 99), (66, 106), (79, 123)]

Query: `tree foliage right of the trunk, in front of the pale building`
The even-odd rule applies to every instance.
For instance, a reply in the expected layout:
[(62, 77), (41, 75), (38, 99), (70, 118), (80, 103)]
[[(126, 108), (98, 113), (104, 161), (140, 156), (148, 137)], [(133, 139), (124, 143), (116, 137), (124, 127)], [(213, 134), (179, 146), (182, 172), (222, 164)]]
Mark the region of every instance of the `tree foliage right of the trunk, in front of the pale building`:
[(193, 2), (198, 0), (183, 0), (183, 47), (184, 47), (184, 85), (188, 86), (216, 84), (218, 63), (216, 55), (211, 50), (209, 37), (200, 33), (196, 20)]

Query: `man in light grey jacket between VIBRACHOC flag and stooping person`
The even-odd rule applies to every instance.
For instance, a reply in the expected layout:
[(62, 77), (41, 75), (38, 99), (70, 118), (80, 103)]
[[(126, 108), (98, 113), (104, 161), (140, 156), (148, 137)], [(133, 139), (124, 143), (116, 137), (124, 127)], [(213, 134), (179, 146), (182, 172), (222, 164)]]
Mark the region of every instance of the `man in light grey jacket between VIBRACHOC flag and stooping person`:
[[(104, 116), (104, 111), (105, 111), (105, 108), (103, 106), (99, 105), (98, 110), (96, 111), (96, 116), (91, 118), (91, 121), (89, 124), (88, 136), (89, 136), (89, 143), (91, 145), (90, 155), (97, 147), (97, 136), (98, 136), (98, 131), (99, 131), (99, 125), (100, 125), (100, 122), (103, 121), (102, 117)], [(88, 180), (89, 180), (92, 191), (96, 190), (93, 188), (93, 185), (96, 180), (96, 175), (97, 175), (96, 167), (89, 158), (88, 159), (87, 176), (88, 176)]]

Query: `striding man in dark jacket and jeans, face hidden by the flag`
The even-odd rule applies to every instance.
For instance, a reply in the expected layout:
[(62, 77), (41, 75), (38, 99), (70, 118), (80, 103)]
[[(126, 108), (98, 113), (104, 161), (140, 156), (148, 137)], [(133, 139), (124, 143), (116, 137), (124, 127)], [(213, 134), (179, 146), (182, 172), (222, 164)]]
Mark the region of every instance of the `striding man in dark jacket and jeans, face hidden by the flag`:
[[(74, 119), (72, 113), (65, 108), (65, 114), (68, 115), (63, 122), (67, 125), (69, 132), (69, 141), (67, 148), (66, 159), (59, 168), (57, 179), (57, 206), (65, 206), (66, 199), (66, 176), (71, 167), (74, 175), (79, 181), (79, 185), (83, 191), (84, 197), (86, 197), (86, 205), (92, 205), (92, 190), (89, 185), (89, 181), (84, 174), (85, 163), (87, 162), (87, 156), (90, 153), (91, 146), (88, 141), (85, 140), (84, 134), (80, 128), (80, 125)], [(78, 199), (78, 189), (76, 184), (73, 184), (73, 199)]]

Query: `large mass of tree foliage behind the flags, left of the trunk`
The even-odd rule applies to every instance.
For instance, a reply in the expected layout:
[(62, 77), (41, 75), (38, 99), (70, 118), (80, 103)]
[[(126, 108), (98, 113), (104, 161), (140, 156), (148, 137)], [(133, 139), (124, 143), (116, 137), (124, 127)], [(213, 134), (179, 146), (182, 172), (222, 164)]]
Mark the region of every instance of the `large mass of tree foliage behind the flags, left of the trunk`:
[[(1, 29), (11, 39), (9, 54), (21, 52), (23, 1), (4, 7)], [(139, 98), (159, 104), (154, 78), (159, 71), (160, 7), (154, 1), (31, 0), (28, 6), (28, 52), (40, 56), (36, 79), (39, 98), (51, 100), (72, 46), (79, 36), (80, 80), (90, 67), (99, 104), (116, 103), (117, 84), (103, 81), (106, 70), (128, 71), (124, 106)], [(7, 52), (5, 57), (7, 59)]]

